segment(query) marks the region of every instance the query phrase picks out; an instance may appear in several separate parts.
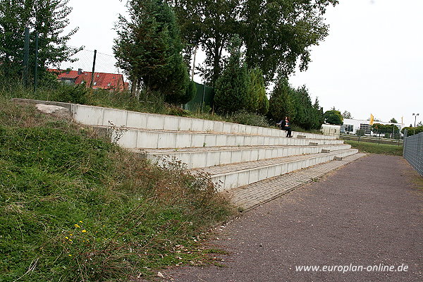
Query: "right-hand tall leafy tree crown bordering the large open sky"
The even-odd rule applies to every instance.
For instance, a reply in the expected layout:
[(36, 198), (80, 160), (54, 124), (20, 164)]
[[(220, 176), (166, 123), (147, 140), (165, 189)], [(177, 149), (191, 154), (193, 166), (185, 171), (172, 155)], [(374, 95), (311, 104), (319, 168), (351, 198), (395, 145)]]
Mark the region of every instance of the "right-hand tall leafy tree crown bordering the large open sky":
[(305, 71), (310, 47), (328, 35), (323, 15), (337, 0), (246, 0), (240, 23), (249, 66), (259, 66), (266, 81), (275, 73)]

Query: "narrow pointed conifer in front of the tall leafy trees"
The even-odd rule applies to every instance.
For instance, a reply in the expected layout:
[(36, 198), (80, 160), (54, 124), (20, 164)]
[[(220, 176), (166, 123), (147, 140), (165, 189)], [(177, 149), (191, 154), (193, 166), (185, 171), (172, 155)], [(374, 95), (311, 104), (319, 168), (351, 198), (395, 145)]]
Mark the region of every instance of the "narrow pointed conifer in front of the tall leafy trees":
[(214, 87), (214, 106), (221, 114), (231, 114), (249, 106), (248, 72), (240, 48), (239, 37), (233, 37), (231, 56)]

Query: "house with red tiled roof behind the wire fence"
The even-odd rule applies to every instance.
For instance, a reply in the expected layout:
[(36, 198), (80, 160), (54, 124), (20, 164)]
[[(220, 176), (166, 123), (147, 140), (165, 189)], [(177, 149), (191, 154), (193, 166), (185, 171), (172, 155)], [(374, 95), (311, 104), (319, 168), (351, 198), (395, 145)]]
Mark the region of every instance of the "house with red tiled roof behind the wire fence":
[[(82, 69), (78, 69), (78, 71), (61, 71), (51, 68), (48, 71), (56, 73), (57, 80), (68, 85), (85, 84), (89, 87), (91, 84), (92, 72), (82, 71)], [(125, 82), (121, 74), (94, 72), (92, 89), (123, 91), (128, 89), (128, 82)]]

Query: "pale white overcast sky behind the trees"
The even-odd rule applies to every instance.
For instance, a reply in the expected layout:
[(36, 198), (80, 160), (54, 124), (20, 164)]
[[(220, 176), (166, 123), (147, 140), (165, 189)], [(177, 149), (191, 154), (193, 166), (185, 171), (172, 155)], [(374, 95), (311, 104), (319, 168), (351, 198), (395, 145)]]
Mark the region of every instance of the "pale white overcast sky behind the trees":
[[(125, 0), (70, 0), (69, 29), (79, 27), (69, 44), (85, 46), (78, 67), (114, 68), (114, 25), (125, 14)], [(329, 36), (311, 48), (309, 68), (290, 76), (294, 87), (306, 85), (324, 111), (333, 106), (353, 118), (370, 114), (381, 121), (396, 118), (405, 126), (423, 120), (422, 0), (340, 0), (324, 15)], [(196, 65), (202, 56), (197, 55)], [(115, 68), (116, 69), (116, 68)], [(197, 79), (199, 81), (199, 79)]]

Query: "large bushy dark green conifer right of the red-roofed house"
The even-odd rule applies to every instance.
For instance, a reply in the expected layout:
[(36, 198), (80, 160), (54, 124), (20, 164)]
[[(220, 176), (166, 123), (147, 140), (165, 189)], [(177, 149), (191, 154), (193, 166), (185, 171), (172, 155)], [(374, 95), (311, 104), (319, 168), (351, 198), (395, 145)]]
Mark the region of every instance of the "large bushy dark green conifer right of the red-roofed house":
[(130, 0), (127, 7), (130, 18), (119, 16), (114, 54), (133, 82), (133, 92), (142, 85), (147, 92), (164, 94), (166, 102), (188, 102), (188, 70), (171, 7), (163, 0)]

